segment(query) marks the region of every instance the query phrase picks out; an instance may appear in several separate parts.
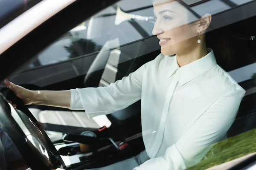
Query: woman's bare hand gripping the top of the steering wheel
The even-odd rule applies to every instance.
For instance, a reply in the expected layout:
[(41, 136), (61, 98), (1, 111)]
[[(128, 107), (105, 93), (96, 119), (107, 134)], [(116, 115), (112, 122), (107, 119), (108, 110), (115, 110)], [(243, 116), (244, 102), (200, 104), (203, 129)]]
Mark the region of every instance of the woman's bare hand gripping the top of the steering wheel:
[(6, 84), (6, 87), (12, 90), (25, 105), (31, 105), (33, 103), (35, 97), (34, 91), (28, 90), (19, 85), (15, 85), (14, 83), (9, 82), (7, 79), (4, 80), (4, 83)]

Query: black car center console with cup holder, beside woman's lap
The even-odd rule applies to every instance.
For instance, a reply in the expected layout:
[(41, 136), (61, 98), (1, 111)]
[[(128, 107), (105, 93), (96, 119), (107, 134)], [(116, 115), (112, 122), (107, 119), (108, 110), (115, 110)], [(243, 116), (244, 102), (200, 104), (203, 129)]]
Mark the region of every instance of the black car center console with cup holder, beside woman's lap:
[[(118, 140), (102, 127), (94, 132), (86, 131), (77, 134), (64, 134), (62, 144), (55, 144), (69, 169), (86, 165), (86, 168), (104, 167), (137, 155), (144, 150), (141, 134), (125, 140)], [(139, 142), (140, 141), (140, 142)]]

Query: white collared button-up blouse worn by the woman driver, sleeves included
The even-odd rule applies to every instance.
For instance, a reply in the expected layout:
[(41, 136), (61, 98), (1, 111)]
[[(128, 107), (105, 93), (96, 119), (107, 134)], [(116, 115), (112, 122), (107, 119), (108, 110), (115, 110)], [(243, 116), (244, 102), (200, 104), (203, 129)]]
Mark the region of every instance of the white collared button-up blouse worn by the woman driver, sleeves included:
[(89, 117), (141, 99), (142, 133), (151, 158), (134, 170), (180, 170), (197, 164), (232, 125), (245, 91), (210, 52), (179, 67), (159, 54), (108, 87), (71, 90), (70, 109)]

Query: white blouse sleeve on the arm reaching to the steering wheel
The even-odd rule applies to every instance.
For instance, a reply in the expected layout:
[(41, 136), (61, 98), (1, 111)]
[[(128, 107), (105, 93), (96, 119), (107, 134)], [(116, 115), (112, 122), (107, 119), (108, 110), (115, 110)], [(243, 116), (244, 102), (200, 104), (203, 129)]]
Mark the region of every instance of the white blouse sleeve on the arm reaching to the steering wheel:
[(113, 113), (141, 99), (146, 63), (107, 87), (71, 89), (71, 110), (85, 110), (88, 117)]

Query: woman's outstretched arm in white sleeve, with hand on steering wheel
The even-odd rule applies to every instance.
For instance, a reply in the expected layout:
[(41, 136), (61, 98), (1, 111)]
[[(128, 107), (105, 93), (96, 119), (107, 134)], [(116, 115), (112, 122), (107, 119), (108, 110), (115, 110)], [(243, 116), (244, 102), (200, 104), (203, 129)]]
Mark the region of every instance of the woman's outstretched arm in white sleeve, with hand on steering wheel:
[(4, 82), (25, 105), (48, 105), (86, 110), (88, 114), (94, 113), (93, 116), (97, 116), (121, 110), (141, 98), (143, 74), (148, 63), (108, 87), (67, 91), (31, 91), (8, 80)]

